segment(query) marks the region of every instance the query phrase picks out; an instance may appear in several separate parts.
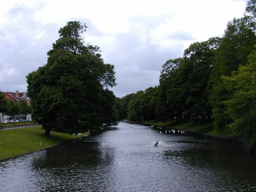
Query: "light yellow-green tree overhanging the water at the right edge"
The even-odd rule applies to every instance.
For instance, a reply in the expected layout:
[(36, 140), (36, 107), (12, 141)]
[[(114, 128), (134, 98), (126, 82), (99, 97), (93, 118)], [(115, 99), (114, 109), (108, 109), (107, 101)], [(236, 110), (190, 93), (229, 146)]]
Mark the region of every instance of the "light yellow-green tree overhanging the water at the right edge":
[(250, 54), (248, 65), (240, 66), (238, 72), (223, 76), (226, 90), (231, 96), (223, 101), (231, 122), (230, 133), (250, 139), (256, 148), (256, 50)]

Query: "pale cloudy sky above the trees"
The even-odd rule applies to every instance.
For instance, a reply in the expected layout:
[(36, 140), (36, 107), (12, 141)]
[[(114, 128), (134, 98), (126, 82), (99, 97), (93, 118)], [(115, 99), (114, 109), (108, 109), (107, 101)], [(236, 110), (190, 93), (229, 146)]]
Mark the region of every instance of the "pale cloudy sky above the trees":
[(121, 98), (158, 86), (162, 65), (193, 42), (222, 37), (246, 0), (8, 0), (0, 6), (0, 90), (26, 92), (66, 22), (88, 27), (86, 43), (114, 65)]

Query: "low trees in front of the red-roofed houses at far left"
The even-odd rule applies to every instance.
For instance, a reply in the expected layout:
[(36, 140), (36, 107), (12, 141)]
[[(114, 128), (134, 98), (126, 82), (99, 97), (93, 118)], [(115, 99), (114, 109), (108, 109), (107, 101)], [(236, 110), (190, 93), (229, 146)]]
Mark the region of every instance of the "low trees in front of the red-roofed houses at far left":
[(5, 98), (6, 94), (0, 91), (0, 113), (14, 117), (15, 115), (24, 116), (31, 113), (31, 107), (26, 99), (14, 102)]

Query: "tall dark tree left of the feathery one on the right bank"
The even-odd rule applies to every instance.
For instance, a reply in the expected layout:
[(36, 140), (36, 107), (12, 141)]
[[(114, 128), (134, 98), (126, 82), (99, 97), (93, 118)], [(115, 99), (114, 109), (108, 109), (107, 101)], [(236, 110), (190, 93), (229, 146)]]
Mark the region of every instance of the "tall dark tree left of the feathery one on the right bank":
[(211, 118), (210, 76), (220, 41), (220, 38), (210, 38), (206, 42), (194, 42), (184, 51), (186, 65), (183, 67), (188, 68), (190, 72), (186, 74), (187, 96), (183, 117), (190, 124), (197, 122), (198, 118)]

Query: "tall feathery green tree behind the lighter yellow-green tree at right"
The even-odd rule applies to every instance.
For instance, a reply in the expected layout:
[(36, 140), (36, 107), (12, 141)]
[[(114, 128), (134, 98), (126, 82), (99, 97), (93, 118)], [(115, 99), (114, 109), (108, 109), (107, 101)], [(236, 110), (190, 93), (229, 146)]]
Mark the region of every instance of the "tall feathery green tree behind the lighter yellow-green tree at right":
[(234, 18), (229, 22), (227, 29), (218, 47), (213, 66), (213, 90), (211, 104), (214, 114), (215, 130), (226, 130), (230, 118), (226, 114), (226, 106), (222, 101), (230, 97), (230, 93), (223, 86), (222, 76), (230, 76), (238, 66), (245, 66), (247, 56), (254, 50), (256, 44), (255, 22), (250, 16)]

